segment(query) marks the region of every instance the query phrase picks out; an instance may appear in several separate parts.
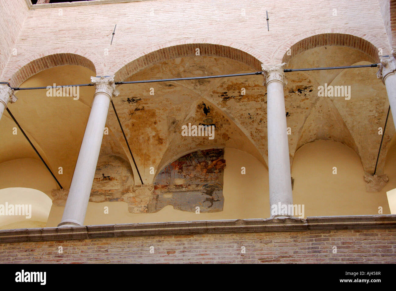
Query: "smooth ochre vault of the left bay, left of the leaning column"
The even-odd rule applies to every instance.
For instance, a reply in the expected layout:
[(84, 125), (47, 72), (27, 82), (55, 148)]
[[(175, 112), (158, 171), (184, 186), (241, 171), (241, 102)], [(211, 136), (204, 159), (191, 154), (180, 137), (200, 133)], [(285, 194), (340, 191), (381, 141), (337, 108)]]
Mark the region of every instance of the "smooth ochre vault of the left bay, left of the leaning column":
[[(21, 87), (89, 83), (93, 74), (88, 68), (62, 65), (38, 72)], [(51, 95), (49, 91), (18, 91), (15, 93), (18, 101), (8, 104), (8, 108), (63, 188), (69, 188), (95, 89), (79, 87), (76, 98), (69, 94)], [(4, 112), (0, 121), (0, 152), (4, 161), (39, 159), (19, 128), (15, 132), (14, 127), (17, 128), (15, 122)]]

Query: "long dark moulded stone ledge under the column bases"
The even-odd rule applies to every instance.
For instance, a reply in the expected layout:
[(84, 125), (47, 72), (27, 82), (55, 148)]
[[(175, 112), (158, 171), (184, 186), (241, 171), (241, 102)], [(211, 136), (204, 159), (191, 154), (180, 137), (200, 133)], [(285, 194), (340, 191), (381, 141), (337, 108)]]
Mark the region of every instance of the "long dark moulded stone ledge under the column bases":
[(233, 219), (24, 228), (0, 230), (0, 243), (116, 238), (122, 236), (369, 228), (396, 228), (396, 215), (319, 216), (307, 217), (307, 219)]

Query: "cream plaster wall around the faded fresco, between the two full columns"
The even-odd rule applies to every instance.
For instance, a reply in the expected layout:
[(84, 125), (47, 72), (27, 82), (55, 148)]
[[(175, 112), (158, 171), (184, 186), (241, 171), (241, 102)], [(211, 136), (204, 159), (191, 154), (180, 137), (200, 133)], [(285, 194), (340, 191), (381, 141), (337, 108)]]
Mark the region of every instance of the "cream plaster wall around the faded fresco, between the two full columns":
[[(166, 206), (157, 213), (132, 214), (126, 202), (89, 202), (84, 223), (145, 223), (166, 221), (191, 221), (209, 219), (247, 219), (268, 217), (268, 171), (256, 158), (234, 148), (225, 148), (227, 167), (224, 171), (224, 209), (217, 213), (189, 213)], [(241, 174), (246, 167), (246, 174)], [(109, 214), (104, 214), (104, 207)], [(53, 205), (47, 226), (57, 226), (61, 221), (64, 207)]]

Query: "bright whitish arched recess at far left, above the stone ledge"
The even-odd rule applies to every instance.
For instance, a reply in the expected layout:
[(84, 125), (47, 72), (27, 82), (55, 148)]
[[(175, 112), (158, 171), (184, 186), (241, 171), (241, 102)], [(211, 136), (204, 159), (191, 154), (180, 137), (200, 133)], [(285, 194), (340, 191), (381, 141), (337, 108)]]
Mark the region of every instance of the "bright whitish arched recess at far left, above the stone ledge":
[(0, 190), (0, 229), (45, 227), (52, 200), (31, 188)]

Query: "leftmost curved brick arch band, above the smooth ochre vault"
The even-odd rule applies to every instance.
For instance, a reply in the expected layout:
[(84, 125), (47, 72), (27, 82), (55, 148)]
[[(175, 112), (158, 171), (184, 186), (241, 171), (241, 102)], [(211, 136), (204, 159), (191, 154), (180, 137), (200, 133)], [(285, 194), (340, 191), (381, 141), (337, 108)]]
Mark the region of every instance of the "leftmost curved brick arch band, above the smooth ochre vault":
[(71, 53), (67, 52), (67, 50), (65, 51), (65, 49), (56, 49), (32, 55), (20, 61), (5, 79), (10, 82), (11, 86), (17, 87), (38, 72), (62, 65), (82, 66), (89, 68), (96, 74), (104, 74), (103, 61), (97, 55), (87, 51), (74, 51)]

